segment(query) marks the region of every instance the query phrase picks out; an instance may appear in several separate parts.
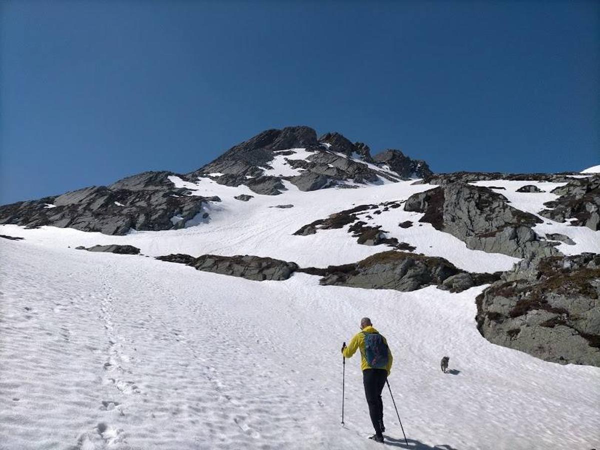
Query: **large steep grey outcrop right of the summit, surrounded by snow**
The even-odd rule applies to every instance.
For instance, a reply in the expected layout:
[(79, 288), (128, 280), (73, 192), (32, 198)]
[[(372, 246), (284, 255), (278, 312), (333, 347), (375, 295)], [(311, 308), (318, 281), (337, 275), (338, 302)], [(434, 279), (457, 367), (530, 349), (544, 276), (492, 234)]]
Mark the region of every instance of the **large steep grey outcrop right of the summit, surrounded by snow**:
[(424, 212), (420, 222), (450, 233), (472, 250), (518, 258), (559, 254), (531, 229), (541, 223), (538, 217), (513, 208), (506, 197), (487, 188), (452, 183), (410, 196), (404, 210)]

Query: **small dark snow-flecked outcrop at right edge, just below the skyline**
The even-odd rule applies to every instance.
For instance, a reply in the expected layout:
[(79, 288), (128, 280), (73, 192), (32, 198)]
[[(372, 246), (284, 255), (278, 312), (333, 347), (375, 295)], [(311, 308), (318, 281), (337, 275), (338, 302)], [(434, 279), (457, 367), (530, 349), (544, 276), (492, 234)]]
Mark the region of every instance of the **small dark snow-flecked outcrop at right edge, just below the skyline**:
[(544, 203), (549, 209), (540, 211), (539, 215), (557, 222), (575, 219), (571, 221), (572, 226), (600, 230), (600, 175), (572, 179), (552, 193), (560, 197)]

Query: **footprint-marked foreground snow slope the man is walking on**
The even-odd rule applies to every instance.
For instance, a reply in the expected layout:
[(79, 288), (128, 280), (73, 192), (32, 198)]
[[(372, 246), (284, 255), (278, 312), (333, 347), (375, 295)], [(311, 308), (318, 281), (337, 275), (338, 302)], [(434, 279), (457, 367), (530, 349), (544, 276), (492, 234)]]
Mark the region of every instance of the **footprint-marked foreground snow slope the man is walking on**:
[[(0, 243), (0, 448), (379, 448), (359, 362), (340, 344), (371, 316), (412, 448), (598, 444), (594, 367), (494, 346), (481, 288), (450, 294), (256, 282), (142, 256)], [(56, 262), (59, 261), (59, 264)], [(439, 369), (451, 357), (455, 374)], [(384, 393), (386, 434), (401, 445)]]

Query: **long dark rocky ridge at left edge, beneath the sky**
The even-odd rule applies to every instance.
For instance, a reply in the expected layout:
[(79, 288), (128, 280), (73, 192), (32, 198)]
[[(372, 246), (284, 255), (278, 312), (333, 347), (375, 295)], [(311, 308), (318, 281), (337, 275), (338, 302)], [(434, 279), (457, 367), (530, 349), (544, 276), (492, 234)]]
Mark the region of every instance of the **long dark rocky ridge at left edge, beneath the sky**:
[(0, 224), (28, 228), (51, 225), (106, 235), (125, 235), (135, 230), (182, 228), (193, 218), (208, 213), (203, 206), (218, 197), (189, 196), (175, 188), (172, 172), (143, 172), (109, 187), (89, 187), (56, 197), (0, 206)]

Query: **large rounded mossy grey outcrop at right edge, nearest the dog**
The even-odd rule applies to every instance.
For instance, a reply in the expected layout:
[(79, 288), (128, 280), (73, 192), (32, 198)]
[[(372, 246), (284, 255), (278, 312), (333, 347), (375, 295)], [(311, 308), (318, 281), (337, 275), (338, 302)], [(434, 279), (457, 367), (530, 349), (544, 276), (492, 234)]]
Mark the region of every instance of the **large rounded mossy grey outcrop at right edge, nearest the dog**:
[(479, 332), (545, 361), (600, 367), (600, 255), (526, 259), (477, 298)]

